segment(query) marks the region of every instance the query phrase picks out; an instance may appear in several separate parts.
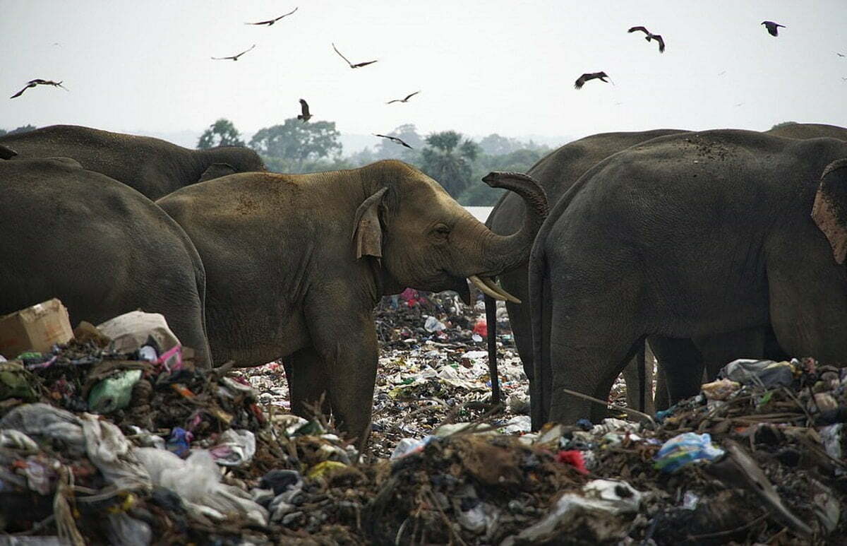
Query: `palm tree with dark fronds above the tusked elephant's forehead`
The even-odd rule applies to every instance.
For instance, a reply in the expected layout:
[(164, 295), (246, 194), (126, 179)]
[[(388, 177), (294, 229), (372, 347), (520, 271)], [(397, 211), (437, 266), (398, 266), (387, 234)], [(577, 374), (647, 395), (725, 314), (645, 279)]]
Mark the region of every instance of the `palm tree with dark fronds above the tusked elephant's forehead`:
[(470, 185), (471, 164), (479, 155), (479, 147), (469, 139), (462, 142), (462, 134), (456, 131), (433, 133), (426, 143), (421, 151), (422, 169), (457, 198)]

